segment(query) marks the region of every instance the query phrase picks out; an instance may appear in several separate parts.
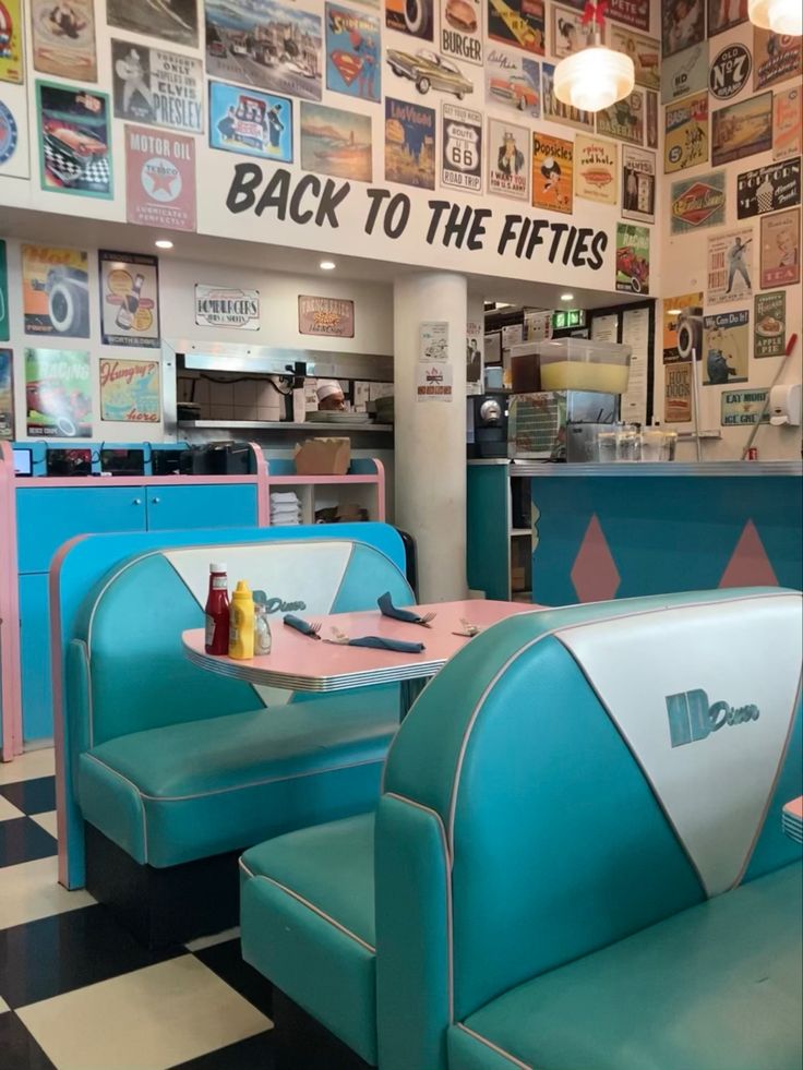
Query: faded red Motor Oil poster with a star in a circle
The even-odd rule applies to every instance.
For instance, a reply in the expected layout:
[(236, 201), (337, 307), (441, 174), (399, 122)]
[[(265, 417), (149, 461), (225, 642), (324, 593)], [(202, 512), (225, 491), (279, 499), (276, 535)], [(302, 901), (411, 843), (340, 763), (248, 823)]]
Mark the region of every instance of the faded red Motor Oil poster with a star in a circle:
[(142, 227), (195, 229), (195, 142), (125, 127), (125, 217)]

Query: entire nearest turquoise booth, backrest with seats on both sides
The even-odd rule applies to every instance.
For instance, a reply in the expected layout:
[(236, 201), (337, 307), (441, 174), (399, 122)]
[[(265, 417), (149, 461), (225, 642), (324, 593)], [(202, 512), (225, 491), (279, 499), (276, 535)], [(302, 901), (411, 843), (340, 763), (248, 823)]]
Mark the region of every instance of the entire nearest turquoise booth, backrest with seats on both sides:
[(243, 954), (381, 1070), (799, 1070), (801, 594), (526, 613), (375, 814), (241, 858)]

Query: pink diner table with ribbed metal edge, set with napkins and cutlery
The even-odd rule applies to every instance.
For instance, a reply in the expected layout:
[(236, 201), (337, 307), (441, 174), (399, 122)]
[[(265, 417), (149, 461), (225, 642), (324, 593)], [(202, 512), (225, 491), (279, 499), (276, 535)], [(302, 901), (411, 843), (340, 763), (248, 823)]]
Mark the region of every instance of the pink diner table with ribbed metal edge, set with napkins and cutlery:
[[(464, 630), (462, 617), (484, 630), (508, 616), (531, 613), (538, 608), (526, 602), (484, 599), (405, 606), (417, 610), (421, 616), (429, 612), (434, 613), (435, 617), (429, 628), (383, 616), (379, 610), (305, 616), (304, 620), (310, 624), (321, 624), (321, 640), (287, 627), (279, 617), (271, 621), (271, 653), (244, 661), (207, 654), (204, 650), (203, 628), (182, 633), (181, 640), (187, 657), (201, 669), (267, 687), (332, 694), (352, 687), (399, 683), (400, 717), (404, 718), (427, 682), (450, 658), (471, 641), (466, 636), (453, 634)], [(424, 650), (421, 653), (400, 653), (323, 642), (323, 639), (333, 637), (333, 628), (353, 639), (375, 635), (385, 639), (422, 642)]]

